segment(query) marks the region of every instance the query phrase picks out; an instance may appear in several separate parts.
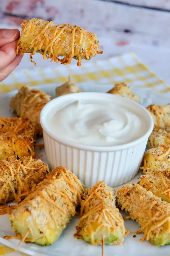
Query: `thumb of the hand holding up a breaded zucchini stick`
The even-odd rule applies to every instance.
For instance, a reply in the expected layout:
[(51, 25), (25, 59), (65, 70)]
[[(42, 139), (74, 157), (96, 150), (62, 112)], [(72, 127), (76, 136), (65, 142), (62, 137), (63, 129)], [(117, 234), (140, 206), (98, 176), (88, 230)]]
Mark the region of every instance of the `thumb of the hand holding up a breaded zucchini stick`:
[(18, 29), (0, 29), (0, 48), (19, 38), (20, 32)]

